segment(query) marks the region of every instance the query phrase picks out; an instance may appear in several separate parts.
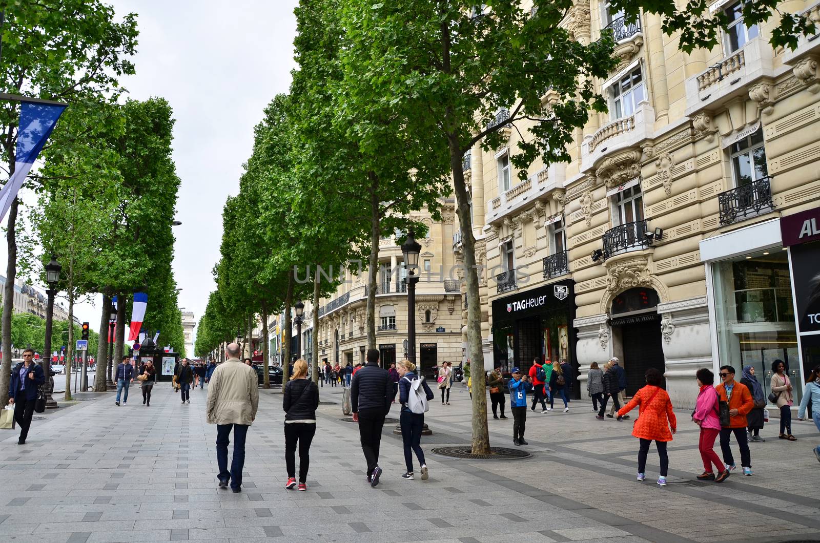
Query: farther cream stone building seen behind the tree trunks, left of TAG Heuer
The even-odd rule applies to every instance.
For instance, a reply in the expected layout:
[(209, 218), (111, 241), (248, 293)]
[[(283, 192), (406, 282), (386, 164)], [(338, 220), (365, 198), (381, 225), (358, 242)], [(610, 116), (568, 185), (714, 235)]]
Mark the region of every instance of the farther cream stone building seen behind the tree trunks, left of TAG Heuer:
[[(453, 274), (452, 250), (456, 231), (452, 200), (442, 203), (442, 221), (433, 221), (427, 212), (413, 213), (428, 228), (421, 244), (420, 281), (416, 285), (416, 314), (408, 315), (406, 268), (403, 254), (392, 233), (380, 241), (378, 284), (376, 285), (376, 344), (386, 363), (405, 356), (408, 318), (416, 319), (416, 361), (422, 370), (444, 361), (458, 364), (462, 359), (462, 302), (458, 280)], [(330, 272), (330, 271), (327, 271)], [(335, 274), (339, 270), (333, 271)], [(360, 363), (367, 349), (367, 272), (353, 267), (342, 271), (344, 280), (319, 307), (319, 356), (331, 364)], [(311, 311), (309, 304), (305, 314)], [(306, 319), (304, 337), (311, 326)]]

